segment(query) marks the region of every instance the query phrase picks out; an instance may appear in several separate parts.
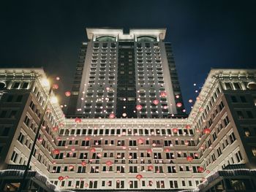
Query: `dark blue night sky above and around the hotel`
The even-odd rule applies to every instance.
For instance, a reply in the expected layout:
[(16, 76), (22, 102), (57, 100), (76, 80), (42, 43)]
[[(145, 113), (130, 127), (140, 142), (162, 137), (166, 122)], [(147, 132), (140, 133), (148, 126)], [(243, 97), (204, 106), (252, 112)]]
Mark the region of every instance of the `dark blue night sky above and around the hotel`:
[(187, 101), (211, 68), (255, 68), (255, 8), (254, 0), (1, 1), (0, 66), (42, 66), (69, 90), (86, 27), (165, 27)]

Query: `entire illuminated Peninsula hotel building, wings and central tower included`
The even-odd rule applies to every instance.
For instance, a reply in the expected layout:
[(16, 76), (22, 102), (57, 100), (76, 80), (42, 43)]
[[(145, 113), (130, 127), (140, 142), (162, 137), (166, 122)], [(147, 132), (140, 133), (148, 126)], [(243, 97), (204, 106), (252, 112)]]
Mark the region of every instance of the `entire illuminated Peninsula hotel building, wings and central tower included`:
[(255, 69), (211, 69), (186, 115), (165, 29), (86, 31), (66, 115), (46, 106), (42, 69), (0, 69), (5, 191), (40, 118), (31, 170), (46, 191), (255, 191)]

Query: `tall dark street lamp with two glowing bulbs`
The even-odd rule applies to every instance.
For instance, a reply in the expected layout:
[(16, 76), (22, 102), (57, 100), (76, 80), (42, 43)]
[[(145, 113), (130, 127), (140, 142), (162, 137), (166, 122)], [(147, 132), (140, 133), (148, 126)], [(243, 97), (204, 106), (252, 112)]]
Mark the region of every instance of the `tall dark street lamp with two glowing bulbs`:
[(34, 142), (33, 142), (33, 145), (31, 147), (31, 151), (30, 151), (30, 154), (29, 154), (29, 160), (28, 160), (28, 163), (26, 164), (26, 169), (24, 171), (24, 174), (23, 174), (23, 179), (21, 180), (21, 183), (20, 183), (20, 187), (18, 189), (18, 192), (21, 192), (23, 191), (23, 188), (26, 186), (25, 182), (26, 182), (26, 176), (29, 172), (29, 166), (30, 166), (30, 163), (31, 163), (31, 158), (32, 158), (32, 155), (34, 153), (34, 148), (37, 144), (37, 139), (39, 137), (39, 131), (40, 131), (40, 128), (42, 126), (42, 123), (44, 121), (44, 117), (45, 117), (45, 113), (47, 112), (47, 109), (48, 109), (48, 102), (50, 101), (51, 103), (57, 103), (58, 102), (58, 99), (56, 98), (56, 96), (53, 96), (53, 97), (50, 97), (52, 91), (53, 91), (53, 86), (50, 85), (50, 82), (49, 80), (47, 79), (42, 79), (41, 80), (41, 84), (44, 86), (44, 87), (49, 87), (50, 86), (50, 90), (48, 92), (48, 96), (47, 96), (47, 99), (46, 99), (46, 102), (45, 102), (45, 109), (43, 110), (43, 113), (42, 113), (42, 117), (39, 121), (39, 125), (38, 125), (38, 128), (37, 128), (37, 133), (36, 133), (36, 136), (34, 137)]

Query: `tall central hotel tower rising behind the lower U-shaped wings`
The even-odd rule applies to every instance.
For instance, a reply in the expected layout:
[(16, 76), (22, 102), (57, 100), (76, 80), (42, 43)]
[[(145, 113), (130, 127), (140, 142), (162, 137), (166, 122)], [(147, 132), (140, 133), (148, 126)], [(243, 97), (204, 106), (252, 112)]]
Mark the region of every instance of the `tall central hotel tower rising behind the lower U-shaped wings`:
[(186, 117), (165, 28), (86, 28), (67, 117)]

